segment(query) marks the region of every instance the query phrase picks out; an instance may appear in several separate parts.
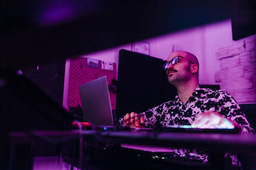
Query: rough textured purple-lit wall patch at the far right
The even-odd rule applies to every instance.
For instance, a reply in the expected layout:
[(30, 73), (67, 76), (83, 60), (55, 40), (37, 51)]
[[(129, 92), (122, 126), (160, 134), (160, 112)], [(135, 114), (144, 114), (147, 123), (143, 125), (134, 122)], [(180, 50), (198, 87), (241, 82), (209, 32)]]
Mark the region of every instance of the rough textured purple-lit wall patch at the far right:
[(215, 82), (228, 90), (239, 104), (256, 103), (256, 37), (221, 47), (216, 52), (220, 71)]

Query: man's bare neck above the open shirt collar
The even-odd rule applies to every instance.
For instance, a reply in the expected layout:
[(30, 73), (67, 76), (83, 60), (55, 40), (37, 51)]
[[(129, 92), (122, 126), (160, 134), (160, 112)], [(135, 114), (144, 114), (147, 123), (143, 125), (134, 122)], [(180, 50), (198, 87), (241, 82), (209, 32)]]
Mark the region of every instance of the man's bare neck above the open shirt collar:
[(177, 93), (182, 101), (183, 104), (186, 104), (186, 101), (189, 100), (189, 97), (191, 97), (192, 93), (195, 91), (195, 88), (198, 86), (197, 82), (190, 81), (190, 82), (182, 82), (176, 86)]

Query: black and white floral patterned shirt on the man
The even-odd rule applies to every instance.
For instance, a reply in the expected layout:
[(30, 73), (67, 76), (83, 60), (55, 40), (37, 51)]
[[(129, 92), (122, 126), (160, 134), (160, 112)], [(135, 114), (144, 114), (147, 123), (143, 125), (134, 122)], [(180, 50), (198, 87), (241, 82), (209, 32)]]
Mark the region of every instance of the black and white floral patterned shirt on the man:
[[(230, 94), (224, 90), (211, 90), (210, 88), (195, 88), (195, 91), (183, 104), (178, 95), (171, 101), (151, 108), (141, 114), (145, 115), (146, 127), (164, 127), (168, 125), (191, 125), (198, 114), (215, 111), (224, 115), (227, 119), (236, 121), (242, 127), (243, 133), (253, 132), (244, 112)], [(119, 122), (122, 124), (123, 119)], [(208, 163), (208, 156), (204, 151), (197, 149), (172, 149), (176, 158), (184, 160), (198, 160)], [(240, 162), (234, 154), (225, 154), (230, 165), (239, 166)]]

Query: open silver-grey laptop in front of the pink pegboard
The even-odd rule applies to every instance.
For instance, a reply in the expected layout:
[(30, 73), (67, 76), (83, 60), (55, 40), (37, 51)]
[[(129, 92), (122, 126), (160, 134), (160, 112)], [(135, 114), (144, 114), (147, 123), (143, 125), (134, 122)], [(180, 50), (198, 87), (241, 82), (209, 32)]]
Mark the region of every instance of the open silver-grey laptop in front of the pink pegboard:
[(107, 77), (79, 86), (83, 119), (96, 126), (114, 126)]

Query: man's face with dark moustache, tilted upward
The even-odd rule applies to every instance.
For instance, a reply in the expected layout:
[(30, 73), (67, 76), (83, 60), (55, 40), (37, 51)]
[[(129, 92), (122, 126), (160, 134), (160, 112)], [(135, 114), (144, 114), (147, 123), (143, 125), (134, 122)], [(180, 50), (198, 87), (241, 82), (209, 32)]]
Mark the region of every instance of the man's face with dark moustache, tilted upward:
[(167, 67), (167, 78), (170, 84), (177, 84), (179, 82), (186, 82), (191, 79), (191, 63), (186, 60), (187, 53), (184, 51), (175, 51), (171, 53), (167, 61), (171, 61), (177, 56), (182, 56), (184, 58), (179, 58), (179, 62), (176, 64), (169, 64)]

